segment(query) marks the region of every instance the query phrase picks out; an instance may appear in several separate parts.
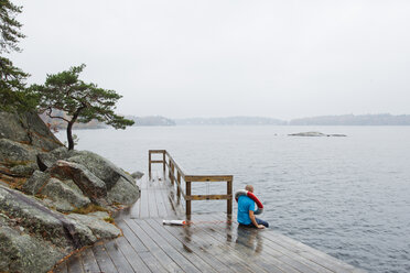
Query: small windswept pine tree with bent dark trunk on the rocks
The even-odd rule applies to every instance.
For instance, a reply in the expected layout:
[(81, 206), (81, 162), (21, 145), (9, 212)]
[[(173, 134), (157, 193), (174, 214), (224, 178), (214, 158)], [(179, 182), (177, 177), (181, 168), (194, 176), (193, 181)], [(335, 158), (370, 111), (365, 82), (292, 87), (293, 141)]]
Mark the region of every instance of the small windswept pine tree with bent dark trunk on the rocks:
[[(39, 111), (50, 118), (61, 119), (68, 123), (68, 149), (74, 148), (72, 125), (74, 122), (87, 123), (93, 119), (116, 129), (126, 129), (133, 121), (114, 112), (121, 98), (114, 90), (99, 88), (96, 84), (87, 84), (79, 79), (85, 65), (74, 66), (68, 70), (47, 75), (44, 85), (32, 85), (29, 90), (39, 100)], [(65, 111), (69, 118), (54, 116), (53, 109)]]

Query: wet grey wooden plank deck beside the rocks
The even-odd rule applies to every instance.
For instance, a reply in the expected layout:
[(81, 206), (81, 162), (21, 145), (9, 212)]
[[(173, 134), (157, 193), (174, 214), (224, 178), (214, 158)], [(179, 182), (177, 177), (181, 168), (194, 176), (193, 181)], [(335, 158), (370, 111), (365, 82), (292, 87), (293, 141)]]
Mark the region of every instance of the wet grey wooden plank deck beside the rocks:
[(364, 272), (272, 229), (240, 228), (226, 214), (163, 226), (162, 219), (184, 219), (170, 183), (138, 184), (141, 198), (116, 218), (123, 237), (74, 254), (54, 272)]

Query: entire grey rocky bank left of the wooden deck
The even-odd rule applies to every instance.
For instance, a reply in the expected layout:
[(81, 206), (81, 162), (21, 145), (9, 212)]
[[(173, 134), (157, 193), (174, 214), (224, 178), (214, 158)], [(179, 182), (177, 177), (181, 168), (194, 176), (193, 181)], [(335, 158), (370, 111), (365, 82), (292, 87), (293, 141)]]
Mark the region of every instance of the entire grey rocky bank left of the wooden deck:
[(136, 181), (88, 151), (68, 151), (36, 113), (0, 112), (0, 272), (47, 272), (73, 251), (121, 234), (112, 214)]

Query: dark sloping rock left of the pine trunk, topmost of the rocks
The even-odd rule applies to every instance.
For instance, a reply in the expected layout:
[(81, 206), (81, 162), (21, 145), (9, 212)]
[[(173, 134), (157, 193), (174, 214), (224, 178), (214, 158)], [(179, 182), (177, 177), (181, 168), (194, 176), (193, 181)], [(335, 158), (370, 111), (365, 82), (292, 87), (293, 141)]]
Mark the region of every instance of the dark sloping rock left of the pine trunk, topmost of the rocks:
[(0, 139), (30, 144), (43, 151), (63, 145), (35, 112), (0, 112)]

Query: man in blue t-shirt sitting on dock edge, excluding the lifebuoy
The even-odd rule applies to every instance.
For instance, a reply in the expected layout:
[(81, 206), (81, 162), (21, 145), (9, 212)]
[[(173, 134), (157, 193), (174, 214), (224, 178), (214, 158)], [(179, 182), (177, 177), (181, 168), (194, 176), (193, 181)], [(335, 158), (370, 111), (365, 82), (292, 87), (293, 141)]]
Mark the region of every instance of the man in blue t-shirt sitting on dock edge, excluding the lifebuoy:
[[(253, 193), (253, 186), (247, 185), (246, 190)], [(269, 223), (261, 219), (255, 217), (255, 201), (248, 196), (239, 196), (238, 199), (238, 222), (240, 227), (258, 228), (263, 229), (265, 227), (269, 228)]]

